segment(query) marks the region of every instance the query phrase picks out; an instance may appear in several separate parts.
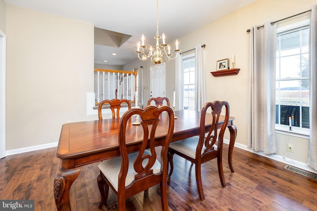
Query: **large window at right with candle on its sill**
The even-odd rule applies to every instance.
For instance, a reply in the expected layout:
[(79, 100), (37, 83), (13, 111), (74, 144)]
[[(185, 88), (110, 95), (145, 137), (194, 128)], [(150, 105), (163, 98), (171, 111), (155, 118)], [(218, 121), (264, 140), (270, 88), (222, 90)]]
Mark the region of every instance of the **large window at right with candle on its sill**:
[(309, 128), (309, 22), (277, 29), (276, 124)]

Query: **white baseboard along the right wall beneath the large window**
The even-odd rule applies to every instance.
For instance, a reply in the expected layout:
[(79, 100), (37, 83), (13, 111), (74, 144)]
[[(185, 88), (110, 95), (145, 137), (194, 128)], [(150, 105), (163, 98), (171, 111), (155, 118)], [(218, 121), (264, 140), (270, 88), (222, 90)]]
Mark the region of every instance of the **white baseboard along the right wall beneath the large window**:
[[(223, 143), (229, 144), (229, 140), (223, 139)], [(287, 165), (290, 165), (290, 166), (293, 166), (293, 167), (297, 167), (299, 169), (303, 169), (303, 170), (307, 170), (307, 171), (310, 171), (310, 172), (313, 172), (313, 173), (317, 173), (317, 170), (311, 168), (306, 163), (302, 163), (302, 162), (294, 161), (294, 160), (293, 160), (293, 162), (294, 162), (293, 163), (291, 159), (285, 158), (286, 159), (285, 160), (283, 158), (283, 156), (281, 156), (281, 155), (276, 155), (276, 154), (266, 155), (266, 154), (264, 154), (263, 151), (256, 152), (253, 149), (248, 148), (247, 145), (240, 144), (240, 143), (235, 143), (234, 146), (237, 147), (237, 148), (252, 152), (254, 154), (261, 155), (261, 156), (264, 156), (266, 158), (269, 158), (269, 159), (272, 159), (272, 160), (275, 160), (275, 161), (279, 161), (281, 163), (284, 163), (284, 164), (287, 164)], [(234, 168), (234, 157), (232, 159), (233, 159), (233, 168)]]

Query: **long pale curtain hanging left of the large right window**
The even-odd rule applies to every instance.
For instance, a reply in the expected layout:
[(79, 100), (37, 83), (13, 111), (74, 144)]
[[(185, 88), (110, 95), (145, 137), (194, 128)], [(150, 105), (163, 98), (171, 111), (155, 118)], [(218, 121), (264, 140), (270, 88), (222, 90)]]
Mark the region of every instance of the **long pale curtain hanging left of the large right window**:
[(250, 36), (248, 148), (276, 154), (276, 24), (252, 27)]

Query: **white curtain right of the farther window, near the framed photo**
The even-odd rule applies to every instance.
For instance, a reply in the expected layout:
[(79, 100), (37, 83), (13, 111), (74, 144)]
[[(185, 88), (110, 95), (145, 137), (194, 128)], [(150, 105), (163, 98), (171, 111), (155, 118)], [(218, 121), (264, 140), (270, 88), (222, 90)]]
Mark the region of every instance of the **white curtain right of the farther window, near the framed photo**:
[(205, 70), (205, 47), (201, 45), (195, 47), (195, 69), (197, 73), (195, 95), (197, 103), (195, 110), (201, 111), (206, 101), (206, 70)]

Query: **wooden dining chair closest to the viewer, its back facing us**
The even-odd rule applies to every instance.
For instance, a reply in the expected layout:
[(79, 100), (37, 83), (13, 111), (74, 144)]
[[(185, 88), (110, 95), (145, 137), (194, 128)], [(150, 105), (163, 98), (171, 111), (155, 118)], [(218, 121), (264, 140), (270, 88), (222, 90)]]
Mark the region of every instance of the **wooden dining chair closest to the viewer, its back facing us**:
[[(165, 112), (166, 111), (166, 112)], [(159, 124), (160, 114), (166, 114), (166, 121)], [(133, 115), (140, 116), (141, 124), (131, 126), (128, 120)], [(165, 115), (165, 114), (164, 114)], [(165, 117), (165, 116), (164, 116)], [(160, 155), (156, 154), (155, 133), (158, 128), (162, 146)], [(117, 196), (118, 211), (125, 211), (125, 199), (160, 184), (160, 198), (163, 211), (168, 210), (167, 204), (167, 151), (174, 130), (174, 114), (167, 106), (146, 106), (143, 109), (132, 108), (120, 119), (118, 141), (120, 157), (101, 162), (97, 178), (101, 194), (99, 209), (106, 205), (109, 187)], [(163, 132), (161, 132), (163, 131)], [(131, 143), (133, 153), (128, 154), (126, 140), (139, 138), (142, 144)], [(160, 161), (158, 160), (160, 158)]]

